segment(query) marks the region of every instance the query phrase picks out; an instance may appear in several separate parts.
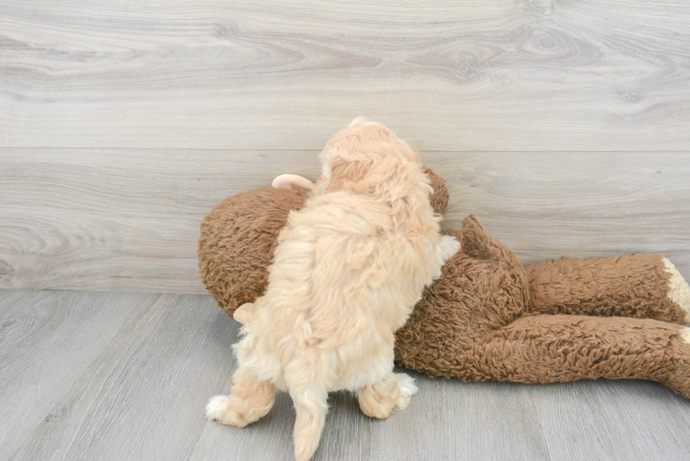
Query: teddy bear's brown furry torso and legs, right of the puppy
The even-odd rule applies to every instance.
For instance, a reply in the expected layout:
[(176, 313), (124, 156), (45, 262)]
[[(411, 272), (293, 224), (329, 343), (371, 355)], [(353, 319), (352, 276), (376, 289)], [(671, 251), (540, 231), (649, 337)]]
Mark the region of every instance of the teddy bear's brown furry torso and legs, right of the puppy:
[[(641, 258), (642, 271), (653, 275), (625, 282), (622, 271), (632, 269), (639, 255), (622, 258), (623, 263), (617, 258), (568, 258), (525, 270), (473, 215), (463, 220), (460, 231), (450, 233), (463, 249), (446, 262), (441, 279), (427, 288), (397, 331), (395, 354), (402, 365), (431, 377), (465, 381), (651, 379), (690, 397), (688, 329), (652, 320), (659, 315), (680, 322), (678, 306), (665, 304), (668, 277), (659, 272), (660, 256)], [(650, 267), (655, 261), (658, 265)], [(558, 272), (563, 265), (570, 268), (567, 277)], [(538, 282), (534, 293), (532, 281)], [(639, 298), (620, 296), (625, 283), (638, 289)], [(613, 285), (610, 291), (608, 284)], [(553, 303), (549, 294), (556, 296)], [(651, 308), (655, 303), (667, 308)]]

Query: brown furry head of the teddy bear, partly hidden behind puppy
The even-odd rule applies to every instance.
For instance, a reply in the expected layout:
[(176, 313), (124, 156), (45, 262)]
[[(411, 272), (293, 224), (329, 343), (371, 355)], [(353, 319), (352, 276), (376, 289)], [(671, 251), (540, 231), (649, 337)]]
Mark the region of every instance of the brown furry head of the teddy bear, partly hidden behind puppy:
[[(446, 182), (426, 168), (432, 182), (431, 204), (439, 215), (448, 209)], [(235, 309), (265, 291), (268, 267), (290, 210), (299, 210), (307, 193), (301, 189), (263, 187), (225, 198), (206, 215), (199, 237), (201, 281), (218, 305), (232, 317)]]

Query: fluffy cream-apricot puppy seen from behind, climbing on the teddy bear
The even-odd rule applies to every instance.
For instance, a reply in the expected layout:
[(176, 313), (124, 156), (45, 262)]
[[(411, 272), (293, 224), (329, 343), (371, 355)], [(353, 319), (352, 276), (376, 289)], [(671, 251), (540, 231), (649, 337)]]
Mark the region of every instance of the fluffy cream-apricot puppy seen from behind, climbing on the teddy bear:
[(322, 176), (290, 213), (268, 289), (235, 346), (232, 395), (206, 408), (243, 427), (270, 410), (276, 389), (288, 391), (298, 461), (318, 447), (329, 391), (356, 391), (377, 418), (410, 403), (413, 379), (393, 373), (394, 332), (444, 262), (429, 179), (408, 144), (358, 118), (320, 160)]

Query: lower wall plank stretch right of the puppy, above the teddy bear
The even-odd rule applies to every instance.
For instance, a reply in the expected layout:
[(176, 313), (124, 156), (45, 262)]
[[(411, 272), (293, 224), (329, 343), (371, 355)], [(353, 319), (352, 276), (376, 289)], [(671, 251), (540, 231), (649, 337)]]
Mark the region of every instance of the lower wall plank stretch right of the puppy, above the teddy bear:
[(475, 213), (522, 263), (661, 253), (690, 279), (690, 153), (425, 158), (443, 165), (439, 173), (451, 194), (447, 224), (458, 227)]

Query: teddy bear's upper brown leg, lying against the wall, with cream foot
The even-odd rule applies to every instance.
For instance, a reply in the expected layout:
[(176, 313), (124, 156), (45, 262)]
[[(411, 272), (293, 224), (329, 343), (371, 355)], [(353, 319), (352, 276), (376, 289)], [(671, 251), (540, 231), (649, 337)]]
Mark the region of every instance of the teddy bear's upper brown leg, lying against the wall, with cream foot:
[(525, 266), (529, 311), (690, 323), (690, 287), (661, 255), (563, 258)]

